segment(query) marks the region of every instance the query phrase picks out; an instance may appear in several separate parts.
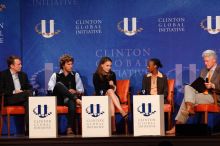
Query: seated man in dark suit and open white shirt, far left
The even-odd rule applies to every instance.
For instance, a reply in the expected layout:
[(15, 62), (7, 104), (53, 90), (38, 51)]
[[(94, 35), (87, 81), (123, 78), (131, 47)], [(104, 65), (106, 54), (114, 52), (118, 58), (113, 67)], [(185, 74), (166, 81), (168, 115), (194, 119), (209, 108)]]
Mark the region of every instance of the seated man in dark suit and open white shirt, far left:
[(28, 97), (32, 95), (32, 86), (27, 75), (21, 71), (21, 59), (10, 56), (7, 59), (8, 69), (0, 74), (0, 88), (5, 96), (5, 105), (23, 105), (25, 107), (25, 128), (28, 134)]

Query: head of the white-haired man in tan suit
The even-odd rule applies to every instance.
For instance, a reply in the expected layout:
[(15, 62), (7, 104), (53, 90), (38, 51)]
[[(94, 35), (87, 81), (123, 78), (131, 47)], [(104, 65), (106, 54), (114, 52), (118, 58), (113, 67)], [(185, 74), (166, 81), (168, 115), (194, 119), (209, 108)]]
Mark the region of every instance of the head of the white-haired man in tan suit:
[(206, 50), (202, 53), (205, 67), (211, 69), (217, 63), (217, 55), (213, 50)]

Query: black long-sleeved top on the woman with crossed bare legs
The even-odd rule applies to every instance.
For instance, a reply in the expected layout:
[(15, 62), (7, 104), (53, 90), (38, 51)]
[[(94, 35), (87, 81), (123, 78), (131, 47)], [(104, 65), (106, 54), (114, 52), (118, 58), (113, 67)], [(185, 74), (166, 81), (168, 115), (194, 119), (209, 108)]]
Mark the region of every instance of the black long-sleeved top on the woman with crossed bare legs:
[(93, 74), (93, 85), (95, 87), (96, 95), (101, 95), (100, 91), (103, 91), (103, 95), (105, 95), (108, 89), (111, 89), (109, 85), (109, 81), (113, 81), (114, 85), (116, 85), (116, 75), (113, 71), (110, 72), (109, 78), (107, 76), (103, 76), (103, 79), (97, 73)]

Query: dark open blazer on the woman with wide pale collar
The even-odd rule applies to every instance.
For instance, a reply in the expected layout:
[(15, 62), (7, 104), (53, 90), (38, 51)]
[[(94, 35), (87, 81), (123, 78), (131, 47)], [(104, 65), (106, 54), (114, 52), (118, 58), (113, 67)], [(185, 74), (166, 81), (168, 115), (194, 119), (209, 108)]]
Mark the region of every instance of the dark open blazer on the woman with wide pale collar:
[[(166, 75), (162, 74), (162, 77), (157, 77), (157, 94), (164, 95), (164, 103), (167, 103), (167, 95), (168, 95), (168, 88), (167, 88), (167, 77)], [(145, 90), (147, 95), (150, 95), (151, 91), (151, 76), (144, 75), (142, 80), (142, 89)]]

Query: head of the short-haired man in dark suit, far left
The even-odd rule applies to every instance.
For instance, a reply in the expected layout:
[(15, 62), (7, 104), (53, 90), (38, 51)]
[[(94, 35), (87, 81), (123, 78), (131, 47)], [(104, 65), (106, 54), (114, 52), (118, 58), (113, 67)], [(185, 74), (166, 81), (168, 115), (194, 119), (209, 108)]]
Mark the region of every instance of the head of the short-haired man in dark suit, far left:
[(8, 68), (11, 69), (14, 73), (21, 71), (21, 59), (18, 56), (9, 56), (7, 59)]

